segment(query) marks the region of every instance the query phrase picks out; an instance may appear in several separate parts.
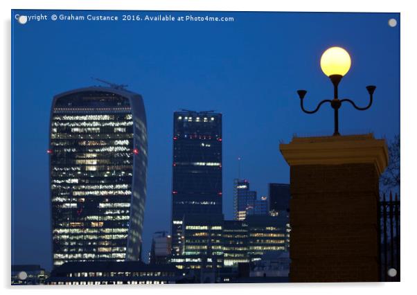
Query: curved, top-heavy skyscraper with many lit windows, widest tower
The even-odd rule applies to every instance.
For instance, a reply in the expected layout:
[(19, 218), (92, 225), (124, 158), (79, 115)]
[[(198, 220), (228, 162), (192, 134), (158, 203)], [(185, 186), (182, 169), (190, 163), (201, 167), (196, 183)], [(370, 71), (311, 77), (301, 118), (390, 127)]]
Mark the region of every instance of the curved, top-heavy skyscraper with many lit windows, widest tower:
[(148, 165), (141, 96), (116, 86), (55, 96), (49, 145), (53, 265), (139, 260)]

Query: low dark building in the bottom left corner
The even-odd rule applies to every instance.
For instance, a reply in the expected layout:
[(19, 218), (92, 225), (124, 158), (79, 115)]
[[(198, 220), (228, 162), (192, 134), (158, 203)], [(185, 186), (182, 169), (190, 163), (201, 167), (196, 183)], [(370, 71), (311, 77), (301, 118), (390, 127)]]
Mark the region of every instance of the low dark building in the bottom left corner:
[(12, 285), (44, 285), (49, 274), (39, 265), (12, 265)]

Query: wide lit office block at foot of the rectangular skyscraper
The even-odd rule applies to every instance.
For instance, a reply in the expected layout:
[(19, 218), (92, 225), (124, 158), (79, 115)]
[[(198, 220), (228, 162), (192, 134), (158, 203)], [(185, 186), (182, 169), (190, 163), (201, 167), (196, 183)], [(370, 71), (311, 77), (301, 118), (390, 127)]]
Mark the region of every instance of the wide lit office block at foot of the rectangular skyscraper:
[(221, 269), (261, 260), (265, 253), (287, 252), (290, 229), (286, 216), (185, 215), (181, 255), (170, 262), (179, 269)]

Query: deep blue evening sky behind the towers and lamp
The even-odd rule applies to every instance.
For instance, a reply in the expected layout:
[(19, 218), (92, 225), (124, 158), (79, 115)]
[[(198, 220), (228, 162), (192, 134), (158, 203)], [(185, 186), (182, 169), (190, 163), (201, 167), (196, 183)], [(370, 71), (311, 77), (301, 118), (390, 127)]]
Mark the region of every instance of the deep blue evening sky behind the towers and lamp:
[[(20, 15), (57, 11), (15, 11)], [(70, 12), (65, 12), (69, 14)], [(135, 12), (136, 13), (136, 12)], [(166, 12), (138, 12), (164, 15)], [(73, 14), (87, 15), (87, 12)], [(95, 14), (98, 14), (96, 12)], [(105, 12), (118, 15), (123, 12)], [(141, 93), (148, 117), (148, 197), (143, 258), (152, 233), (168, 230), (172, 166), (172, 113), (178, 109), (223, 114), (223, 208), (233, 213), (233, 178), (249, 179), (258, 195), (269, 182), (289, 182), (278, 151), (294, 134), (332, 134), (329, 105), (303, 114), (297, 89), (312, 109), (332, 98), (319, 67), (321, 53), (342, 46), (352, 58), (339, 96), (366, 105), (339, 112), (341, 134), (400, 132), (400, 15), (358, 13), (170, 12), (232, 16), (233, 22), (30, 21), (12, 16), (12, 264), (51, 268), (48, 123), (55, 94), (98, 84), (91, 76)], [(388, 20), (396, 18), (391, 28)]]

